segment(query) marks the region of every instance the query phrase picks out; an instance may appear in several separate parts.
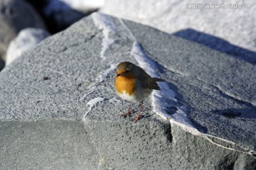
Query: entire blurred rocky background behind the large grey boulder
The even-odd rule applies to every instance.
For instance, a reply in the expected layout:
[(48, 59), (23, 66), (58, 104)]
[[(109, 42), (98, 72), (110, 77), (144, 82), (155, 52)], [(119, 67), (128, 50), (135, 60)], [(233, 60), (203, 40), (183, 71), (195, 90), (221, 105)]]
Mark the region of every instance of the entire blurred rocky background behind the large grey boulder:
[[(198, 4), (202, 4), (203, 8), (196, 6)], [(251, 6), (206, 8), (209, 4)], [(221, 0), (215, 3), (175, 0), (161, 0), (157, 3), (154, 0), (2, 0), (0, 70), (23, 51), (34, 47), (47, 36), (68, 28), (93, 11), (143, 23), (255, 64), (254, 4), (250, 0), (233, 0), (230, 3)]]

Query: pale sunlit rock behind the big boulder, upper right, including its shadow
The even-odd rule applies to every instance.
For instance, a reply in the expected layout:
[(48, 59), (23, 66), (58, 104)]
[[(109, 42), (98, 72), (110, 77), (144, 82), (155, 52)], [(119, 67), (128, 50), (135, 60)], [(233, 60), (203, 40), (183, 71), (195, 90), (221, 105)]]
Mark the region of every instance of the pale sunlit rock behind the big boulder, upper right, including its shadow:
[[(238, 8), (239, 5), (243, 8)], [(253, 64), (256, 64), (255, 10), (253, 0), (110, 0), (100, 8), (102, 13), (173, 33)]]

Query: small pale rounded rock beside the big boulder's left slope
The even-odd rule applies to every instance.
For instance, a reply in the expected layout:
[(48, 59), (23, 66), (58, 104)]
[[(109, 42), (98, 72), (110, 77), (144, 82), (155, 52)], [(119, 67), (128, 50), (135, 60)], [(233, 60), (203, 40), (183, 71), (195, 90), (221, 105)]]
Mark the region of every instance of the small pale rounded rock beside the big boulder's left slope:
[(6, 65), (21, 56), (23, 52), (36, 47), (39, 42), (48, 36), (50, 36), (50, 33), (40, 28), (25, 28), (21, 30), (17, 37), (10, 42), (6, 52)]

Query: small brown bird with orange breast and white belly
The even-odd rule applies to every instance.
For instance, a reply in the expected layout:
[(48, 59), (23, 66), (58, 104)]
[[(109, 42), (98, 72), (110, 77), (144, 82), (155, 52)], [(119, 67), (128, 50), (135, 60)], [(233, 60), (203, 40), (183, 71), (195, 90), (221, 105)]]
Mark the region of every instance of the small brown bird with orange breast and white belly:
[(142, 118), (143, 101), (153, 90), (161, 90), (157, 81), (165, 80), (149, 76), (144, 69), (132, 62), (121, 62), (117, 65), (115, 91), (120, 98), (130, 101), (127, 113), (122, 114), (124, 117), (131, 115), (132, 103), (140, 102), (139, 114), (133, 119), (134, 123)]

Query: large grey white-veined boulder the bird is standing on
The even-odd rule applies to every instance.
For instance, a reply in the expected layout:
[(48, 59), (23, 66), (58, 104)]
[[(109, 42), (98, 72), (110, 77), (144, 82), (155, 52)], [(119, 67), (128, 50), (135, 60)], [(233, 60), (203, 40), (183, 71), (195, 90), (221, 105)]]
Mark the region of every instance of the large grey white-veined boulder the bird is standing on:
[[(144, 69), (174, 96), (152, 94), (138, 123), (119, 116), (129, 103), (114, 92), (114, 69), (124, 60), (150, 63)], [(250, 62), (95, 13), (0, 73), (0, 166), (255, 169), (255, 72)]]

